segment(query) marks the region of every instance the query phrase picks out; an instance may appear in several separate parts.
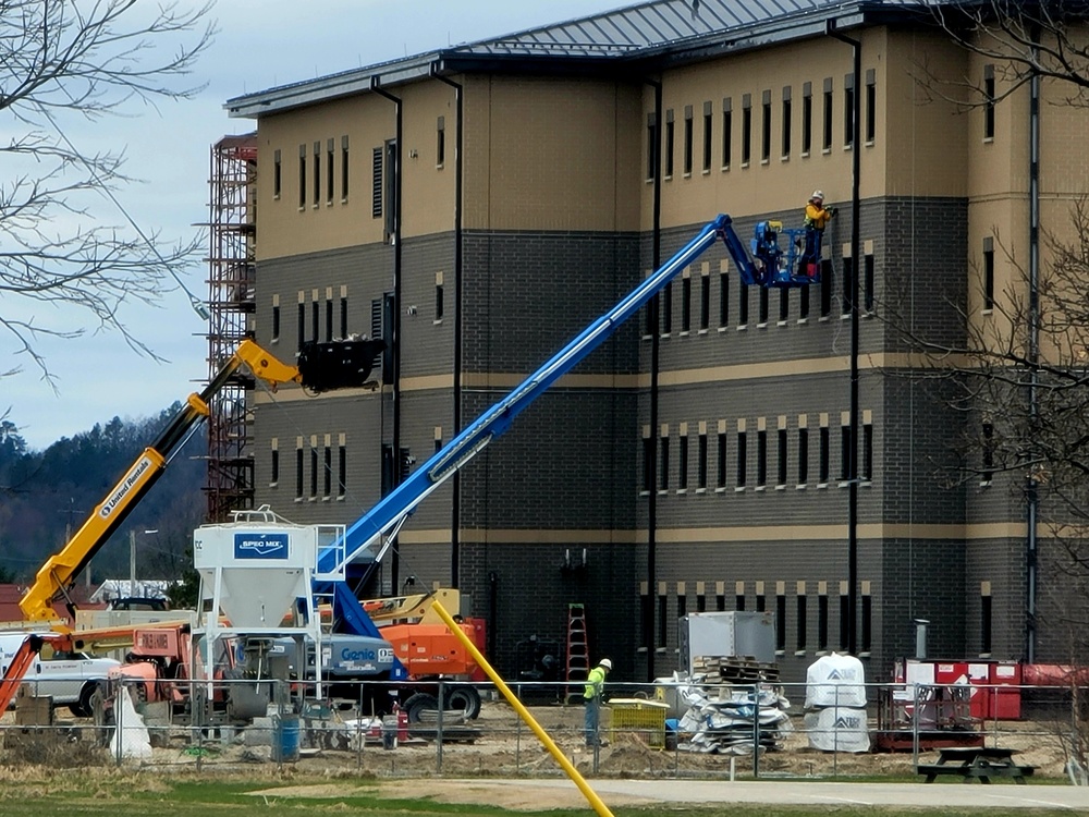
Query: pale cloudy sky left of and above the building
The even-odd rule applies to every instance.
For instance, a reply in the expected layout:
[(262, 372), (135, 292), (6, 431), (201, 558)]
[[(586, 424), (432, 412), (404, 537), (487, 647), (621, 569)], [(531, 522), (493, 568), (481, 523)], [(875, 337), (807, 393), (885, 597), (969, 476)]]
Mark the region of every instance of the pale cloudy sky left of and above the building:
[[(198, 7), (200, 0), (181, 0)], [(119, 198), (145, 233), (185, 239), (208, 220), (209, 151), (227, 134), (254, 129), (229, 119), (223, 102), (276, 85), (309, 80), (360, 65), (430, 51), (446, 45), (511, 34), (538, 25), (624, 8), (623, 0), (219, 0), (212, 11), (220, 33), (198, 65), (208, 88), (197, 98), (137, 118), (108, 119), (82, 134), (87, 144), (108, 138), (125, 146), (126, 170), (143, 180)], [(81, 145), (81, 133), (66, 129)], [(122, 216), (103, 202), (94, 215), (105, 223)], [(206, 269), (184, 276), (186, 286), (207, 297)], [(0, 380), (0, 414), (11, 410), (32, 449), (41, 450), (114, 416), (156, 414), (184, 400), (207, 378), (205, 325), (187, 296), (169, 293), (161, 308), (130, 308), (131, 329), (169, 363), (137, 356), (121, 339), (95, 334), (76, 341), (42, 341), (60, 394), (23, 363), (23, 371)], [(0, 370), (20, 363), (0, 337)]]

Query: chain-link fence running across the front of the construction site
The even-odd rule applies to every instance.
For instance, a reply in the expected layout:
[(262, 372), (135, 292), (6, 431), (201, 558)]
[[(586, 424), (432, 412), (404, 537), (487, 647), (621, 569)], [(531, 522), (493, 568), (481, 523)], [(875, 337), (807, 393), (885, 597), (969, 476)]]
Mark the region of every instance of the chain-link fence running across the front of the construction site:
[[(599, 734), (583, 687), (512, 690), (584, 773), (670, 778), (919, 779), (943, 747), (1016, 753), (1037, 778), (1086, 784), (1085, 687), (608, 684)], [(563, 773), (491, 684), (338, 685), (159, 681), (102, 688), (94, 718), (21, 695), (0, 763), (302, 770), (379, 777)], [(347, 695), (346, 693), (351, 693)], [(440, 706), (439, 702), (442, 702)]]

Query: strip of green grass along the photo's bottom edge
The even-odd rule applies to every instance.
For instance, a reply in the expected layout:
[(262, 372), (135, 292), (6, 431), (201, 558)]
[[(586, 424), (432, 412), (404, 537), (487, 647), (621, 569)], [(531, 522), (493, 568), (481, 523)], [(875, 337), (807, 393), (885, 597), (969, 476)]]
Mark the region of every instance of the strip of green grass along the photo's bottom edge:
[[(297, 794), (297, 786), (317, 786), (318, 796)], [(328, 793), (327, 793), (328, 790)], [(658, 817), (678, 814), (696, 817), (800, 817), (827, 815), (842, 817), (919, 817), (928, 812), (918, 808), (876, 808), (872, 806), (768, 806), (722, 804), (713, 806), (673, 805), (651, 808), (617, 807), (617, 817)], [(933, 810), (929, 814), (938, 814)], [(109, 815), (109, 817), (227, 817), (260, 814), (267, 817), (287, 815), (488, 815), (511, 814), (494, 805), (456, 805), (430, 798), (387, 798), (380, 796), (374, 780), (307, 778), (255, 771), (252, 779), (240, 777), (162, 776), (118, 770), (56, 770), (26, 773), (0, 769), (0, 814), (20, 817), (57, 815)], [(518, 812), (526, 817), (549, 815), (592, 815), (589, 805), (578, 809)], [(950, 809), (943, 817), (1051, 817), (1068, 815), (1056, 809)]]

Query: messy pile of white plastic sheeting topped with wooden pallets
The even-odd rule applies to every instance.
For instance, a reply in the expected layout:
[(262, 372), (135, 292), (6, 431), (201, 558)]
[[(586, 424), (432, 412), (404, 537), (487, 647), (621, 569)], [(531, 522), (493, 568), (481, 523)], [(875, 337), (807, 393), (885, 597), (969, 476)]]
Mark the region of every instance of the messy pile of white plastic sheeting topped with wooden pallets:
[(779, 668), (750, 658), (697, 656), (690, 676), (676, 673), (681, 752), (750, 755), (783, 748), (793, 731)]

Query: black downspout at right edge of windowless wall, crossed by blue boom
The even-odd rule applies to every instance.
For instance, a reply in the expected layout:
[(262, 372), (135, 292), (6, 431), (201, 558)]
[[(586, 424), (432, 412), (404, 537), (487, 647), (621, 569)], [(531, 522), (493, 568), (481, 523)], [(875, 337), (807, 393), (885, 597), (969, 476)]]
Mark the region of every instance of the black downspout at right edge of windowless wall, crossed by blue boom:
[[(644, 80), (654, 89), (654, 188), (651, 225), (652, 269), (662, 266), (662, 83), (659, 80)], [(647, 653), (647, 682), (654, 680), (654, 605), (658, 602), (658, 368), (661, 359), (660, 309), (661, 294), (656, 294), (647, 304), (647, 324), (650, 327), (650, 490), (647, 495), (647, 601), (643, 614), (643, 645)], [(662, 633), (662, 643), (666, 634)]]

